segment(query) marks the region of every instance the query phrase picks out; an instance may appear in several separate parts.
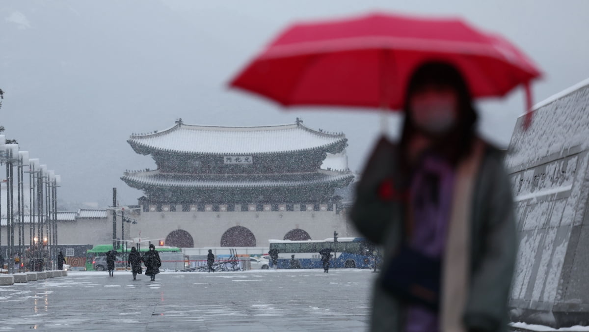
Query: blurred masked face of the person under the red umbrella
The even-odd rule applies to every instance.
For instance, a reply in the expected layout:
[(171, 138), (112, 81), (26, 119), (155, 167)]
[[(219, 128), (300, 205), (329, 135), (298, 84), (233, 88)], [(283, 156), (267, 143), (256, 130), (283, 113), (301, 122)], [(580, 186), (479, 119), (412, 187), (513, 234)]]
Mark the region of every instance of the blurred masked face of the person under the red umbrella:
[(450, 93), (428, 91), (413, 97), (411, 112), (418, 129), (441, 135), (456, 124), (456, 97)]

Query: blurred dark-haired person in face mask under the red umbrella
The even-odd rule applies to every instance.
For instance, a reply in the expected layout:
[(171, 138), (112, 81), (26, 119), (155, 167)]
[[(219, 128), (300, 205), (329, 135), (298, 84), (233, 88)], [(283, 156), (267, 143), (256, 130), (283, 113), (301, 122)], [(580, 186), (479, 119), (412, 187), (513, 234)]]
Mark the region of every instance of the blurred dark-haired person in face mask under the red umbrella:
[(383, 247), (372, 331), (507, 331), (516, 255), (502, 153), (475, 133), (462, 75), (426, 63), (409, 81), (401, 142), (382, 138), (350, 218)]

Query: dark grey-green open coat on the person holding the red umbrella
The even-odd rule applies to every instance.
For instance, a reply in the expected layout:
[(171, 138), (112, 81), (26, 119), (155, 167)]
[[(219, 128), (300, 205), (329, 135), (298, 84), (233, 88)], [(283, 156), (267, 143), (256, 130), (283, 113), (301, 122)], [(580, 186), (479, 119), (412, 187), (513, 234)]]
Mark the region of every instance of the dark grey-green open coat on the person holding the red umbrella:
[[(350, 212), (350, 219), (358, 231), (369, 241), (384, 249), (383, 267), (394, 257), (400, 247), (403, 236), (403, 222), (406, 218), (406, 205), (401, 200), (384, 199), (383, 183), (399, 176), (395, 156), (398, 147), (382, 138), (376, 145), (362, 178), (356, 187), (356, 200)], [(514, 272), (516, 231), (511, 184), (502, 165), (503, 155), (499, 150), (484, 144), (482, 156), (475, 175), (472, 177), (471, 196), (456, 199), (453, 195), (452, 208), (464, 208), (465, 222), (461, 227), (464, 243), (456, 251), (454, 243), (448, 241), (445, 252), (445, 264), (452, 265), (456, 257), (448, 252), (458, 252), (465, 261), (465, 284), (455, 284), (452, 291), (461, 292), (461, 304), (444, 305), (446, 284), (452, 278), (445, 278), (442, 284), (442, 307), (455, 311), (456, 328), (444, 328), (441, 331), (468, 331), (479, 328), (481, 331), (507, 331), (508, 298)], [(460, 170), (456, 179), (464, 181), (468, 175)], [(403, 179), (397, 179), (402, 181)], [(458, 182), (456, 182), (458, 185)], [(394, 188), (393, 188), (394, 192)], [(394, 195), (393, 195), (394, 196)], [(454, 211), (452, 218), (454, 217)], [(451, 219), (452, 219), (451, 218)], [(456, 231), (454, 221), (450, 220), (450, 232)], [(464, 255), (462, 254), (464, 253)], [(446, 267), (451, 268), (451, 267)], [(451, 271), (451, 270), (450, 270)], [(450, 276), (452, 272), (449, 272)], [(406, 305), (388, 293), (382, 286), (383, 271), (373, 287), (371, 331), (402, 331), (403, 312)], [(446, 292), (449, 294), (450, 292)], [(464, 296), (462, 296), (464, 295)], [(443, 309), (439, 314), (445, 320)]]

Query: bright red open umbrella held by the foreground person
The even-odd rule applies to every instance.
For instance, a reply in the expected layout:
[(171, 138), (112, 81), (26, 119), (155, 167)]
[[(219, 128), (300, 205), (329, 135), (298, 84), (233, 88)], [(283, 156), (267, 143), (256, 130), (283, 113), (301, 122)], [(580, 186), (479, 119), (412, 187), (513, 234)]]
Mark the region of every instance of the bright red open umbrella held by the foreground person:
[(446, 61), (464, 75), (473, 97), (505, 96), (540, 71), (504, 38), (461, 19), (371, 14), (294, 24), (230, 85), (283, 106), (403, 107), (413, 70)]

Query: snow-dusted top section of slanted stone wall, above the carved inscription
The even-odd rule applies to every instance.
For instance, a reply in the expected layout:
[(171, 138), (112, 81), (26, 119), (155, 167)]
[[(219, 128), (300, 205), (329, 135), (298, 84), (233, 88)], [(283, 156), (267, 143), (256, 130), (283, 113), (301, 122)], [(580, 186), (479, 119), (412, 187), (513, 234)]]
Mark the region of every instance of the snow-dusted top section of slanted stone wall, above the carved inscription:
[(524, 167), (571, 147), (589, 144), (589, 80), (555, 94), (535, 106), (526, 130), (520, 117), (509, 143), (505, 165)]

